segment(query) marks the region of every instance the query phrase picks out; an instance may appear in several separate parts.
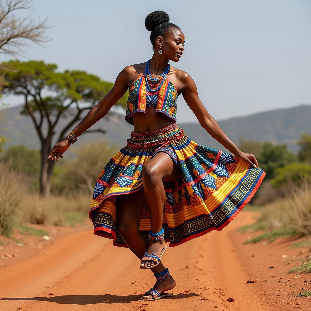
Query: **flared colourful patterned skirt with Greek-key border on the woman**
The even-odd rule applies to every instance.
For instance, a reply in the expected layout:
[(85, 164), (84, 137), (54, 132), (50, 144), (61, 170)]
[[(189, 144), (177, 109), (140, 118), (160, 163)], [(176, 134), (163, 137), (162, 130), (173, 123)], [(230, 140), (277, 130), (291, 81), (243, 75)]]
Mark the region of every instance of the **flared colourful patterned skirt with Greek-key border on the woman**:
[[(151, 132), (130, 133), (127, 146), (104, 166), (94, 187), (89, 217), (94, 234), (128, 247), (117, 229), (116, 196), (143, 188), (142, 168), (158, 152), (179, 165), (181, 176), (163, 182), (165, 242), (177, 246), (230, 223), (257, 191), (265, 172), (235, 156), (200, 145), (176, 123)], [(140, 232), (147, 237), (150, 216), (145, 204)]]

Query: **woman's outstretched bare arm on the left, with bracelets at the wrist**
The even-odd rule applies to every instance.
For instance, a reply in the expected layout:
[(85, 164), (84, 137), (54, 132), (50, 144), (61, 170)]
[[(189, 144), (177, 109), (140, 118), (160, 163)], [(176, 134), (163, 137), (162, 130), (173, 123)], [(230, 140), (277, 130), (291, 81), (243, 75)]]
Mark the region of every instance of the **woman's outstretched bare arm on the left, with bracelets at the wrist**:
[[(128, 89), (128, 81), (132, 70), (132, 66), (124, 67), (121, 70), (116, 78), (114, 86), (108, 94), (96, 106), (94, 106), (81, 120), (81, 122), (72, 130), (77, 137), (103, 118), (108, 113), (110, 108), (125, 94)], [(62, 142), (58, 142), (51, 149), (48, 158), (52, 157), (51, 160), (55, 159), (58, 161), (59, 153), (64, 153), (70, 145), (71, 141), (68, 138), (65, 138)], [(63, 158), (62, 155), (60, 157)]]

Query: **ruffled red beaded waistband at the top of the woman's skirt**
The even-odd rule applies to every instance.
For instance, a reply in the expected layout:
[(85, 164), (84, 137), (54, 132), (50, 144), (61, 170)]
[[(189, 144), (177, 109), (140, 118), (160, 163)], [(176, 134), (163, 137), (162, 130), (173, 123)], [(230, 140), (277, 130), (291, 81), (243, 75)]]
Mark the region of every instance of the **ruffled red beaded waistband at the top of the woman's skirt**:
[(151, 132), (130, 133), (131, 137), (128, 138), (127, 145), (130, 147), (150, 147), (150, 146), (165, 146), (171, 141), (178, 140), (183, 137), (184, 129), (179, 128), (177, 123), (160, 128)]

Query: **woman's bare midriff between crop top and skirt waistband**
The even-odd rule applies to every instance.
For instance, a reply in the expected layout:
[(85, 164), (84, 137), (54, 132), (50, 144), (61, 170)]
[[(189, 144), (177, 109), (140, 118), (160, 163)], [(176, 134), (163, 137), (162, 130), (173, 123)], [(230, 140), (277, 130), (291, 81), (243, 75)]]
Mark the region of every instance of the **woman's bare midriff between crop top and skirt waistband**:
[(134, 133), (151, 132), (175, 123), (165, 114), (155, 114), (156, 107), (146, 107), (146, 114), (137, 112), (133, 114)]

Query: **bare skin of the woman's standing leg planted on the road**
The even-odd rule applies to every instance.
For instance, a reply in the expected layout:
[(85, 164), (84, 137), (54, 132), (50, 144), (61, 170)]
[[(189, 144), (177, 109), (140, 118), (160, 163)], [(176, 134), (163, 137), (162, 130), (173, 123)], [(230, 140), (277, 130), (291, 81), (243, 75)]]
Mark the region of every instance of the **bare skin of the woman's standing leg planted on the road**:
[[(139, 260), (145, 255), (148, 247), (148, 240), (139, 231), (139, 225), (142, 215), (142, 210), (146, 204), (144, 196), (144, 188), (129, 194), (117, 195), (117, 228), (128, 248), (138, 257)], [(162, 260), (160, 263), (150, 269), (153, 273), (160, 273), (165, 270)], [(176, 286), (176, 282), (170, 275), (164, 281), (158, 281), (153, 286), (153, 289), (159, 290), (162, 293), (165, 290), (170, 290)], [(153, 298), (151, 295), (143, 296), (146, 299)]]

